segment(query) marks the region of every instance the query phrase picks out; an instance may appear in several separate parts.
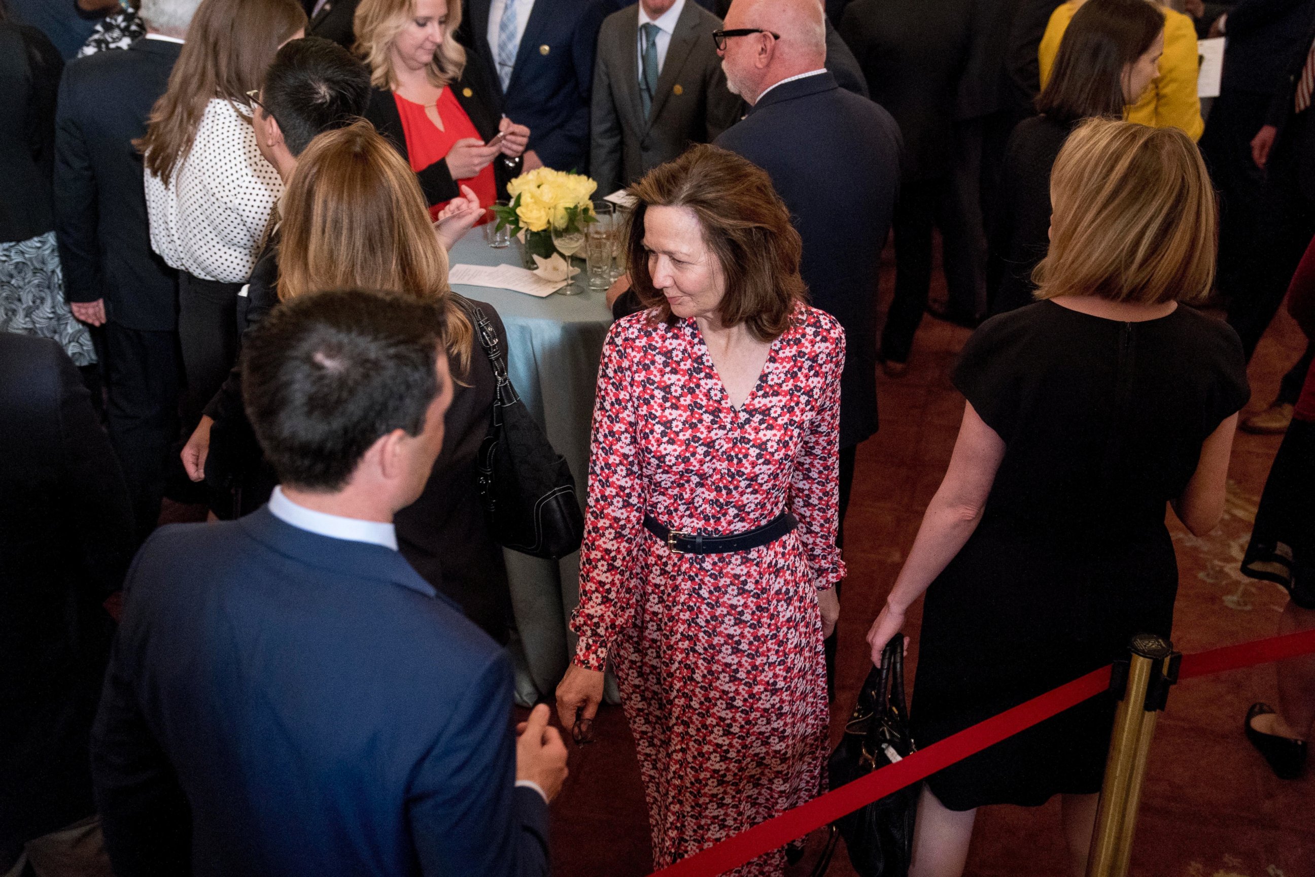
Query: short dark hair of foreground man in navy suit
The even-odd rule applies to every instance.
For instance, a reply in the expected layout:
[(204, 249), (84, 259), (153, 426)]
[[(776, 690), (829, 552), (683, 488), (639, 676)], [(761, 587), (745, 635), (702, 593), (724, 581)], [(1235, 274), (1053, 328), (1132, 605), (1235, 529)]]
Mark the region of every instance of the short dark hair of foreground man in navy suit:
[(381, 437), (418, 435), (439, 392), (443, 309), (383, 292), (280, 304), (242, 342), (242, 398), (279, 480), (338, 490)]

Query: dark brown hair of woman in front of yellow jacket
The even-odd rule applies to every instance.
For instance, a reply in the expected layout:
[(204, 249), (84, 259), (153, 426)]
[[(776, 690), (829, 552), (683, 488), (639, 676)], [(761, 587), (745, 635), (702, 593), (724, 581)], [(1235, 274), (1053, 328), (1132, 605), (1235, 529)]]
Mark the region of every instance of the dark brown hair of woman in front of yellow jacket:
[(1088, 0), (1064, 32), (1036, 110), (1063, 124), (1123, 118), (1123, 71), (1161, 30), (1164, 12), (1148, 0)]

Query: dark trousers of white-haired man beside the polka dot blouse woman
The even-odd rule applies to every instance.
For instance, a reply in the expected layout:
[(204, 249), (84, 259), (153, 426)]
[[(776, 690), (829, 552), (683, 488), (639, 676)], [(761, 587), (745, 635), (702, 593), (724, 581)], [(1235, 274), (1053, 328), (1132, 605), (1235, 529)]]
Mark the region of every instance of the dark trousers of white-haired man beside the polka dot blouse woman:
[(105, 323), (105, 426), (133, 500), (138, 542), (160, 517), (160, 497), (178, 437), (178, 333)]

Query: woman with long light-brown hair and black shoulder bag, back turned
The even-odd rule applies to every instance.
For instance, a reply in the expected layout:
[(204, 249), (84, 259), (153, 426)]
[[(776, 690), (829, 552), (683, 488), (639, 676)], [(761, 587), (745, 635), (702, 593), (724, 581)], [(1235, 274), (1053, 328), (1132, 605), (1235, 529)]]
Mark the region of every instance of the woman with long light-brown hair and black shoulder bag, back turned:
[[(493, 323), (502, 350), (506, 333), (492, 305), (471, 302), (447, 283), (447, 255), (429, 222), (416, 175), (397, 150), (364, 121), (316, 137), (297, 159), (280, 208), (279, 246), (251, 276), (250, 304), (239, 309), (245, 327), (276, 302), (320, 289), (393, 289), (448, 302), (448, 362), (455, 379), (444, 418), (443, 451), (425, 492), (397, 513), (402, 556), (434, 588), (498, 642), (512, 628), (512, 602), (502, 550), (484, 519), (476, 455), (493, 417), (496, 379), (475, 338), (468, 308)], [(227, 465), (229, 477), (256, 490), (247, 509), (263, 502), (274, 481), (263, 462), (230, 376), (206, 409), (214, 417), (205, 460), (208, 479)]]

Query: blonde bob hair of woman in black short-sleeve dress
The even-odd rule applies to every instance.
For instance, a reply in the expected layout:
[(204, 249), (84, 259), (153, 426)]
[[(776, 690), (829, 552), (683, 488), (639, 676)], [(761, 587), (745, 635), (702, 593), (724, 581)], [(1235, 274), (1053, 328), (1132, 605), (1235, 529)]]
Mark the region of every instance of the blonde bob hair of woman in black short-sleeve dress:
[(1156, 305), (1210, 292), (1215, 192), (1178, 129), (1088, 120), (1055, 160), (1051, 204), (1049, 252), (1032, 272), (1038, 298)]

